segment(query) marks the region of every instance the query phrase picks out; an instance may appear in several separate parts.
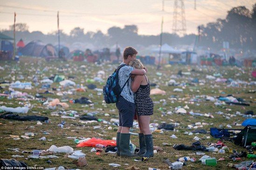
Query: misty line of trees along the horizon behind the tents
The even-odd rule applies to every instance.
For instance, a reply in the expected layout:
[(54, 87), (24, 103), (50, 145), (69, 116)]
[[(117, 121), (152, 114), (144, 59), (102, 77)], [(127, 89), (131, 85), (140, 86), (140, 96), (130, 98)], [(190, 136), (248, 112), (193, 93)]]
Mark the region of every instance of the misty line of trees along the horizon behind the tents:
[[(211, 49), (220, 50), (223, 41), (229, 42), (229, 47), (241, 49), (243, 51), (256, 50), (256, 3), (252, 11), (244, 6), (233, 7), (225, 19), (217, 19), (206, 25), (200, 25), (199, 34), (189, 34), (179, 37), (172, 33), (163, 33), (162, 42), (171, 46), (177, 45), (194, 45), (210, 47)], [(46, 43), (56, 44), (58, 31), (43, 34), (40, 31), (29, 32), (26, 23), (15, 24), (16, 42), (19, 39), (31, 41), (40, 39)], [(13, 35), (13, 25), (8, 30), (0, 30), (8, 36)], [(150, 46), (158, 45), (159, 35), (139, 35), (138, 26), (126, 25), (124, 28), (113, 26), (108, 29), (107, 34), (100, 30), (97, 32), (84, 33), (84, 28), (75, 27), (69, 34), (60, 30), (62, 42), (72, 44), (73, 42), (90, 43), (98, 48), (113, 46), (118, 43), (120, 46)], [(197, 42), (196, 42), (197, 41)], [(83, 49), (84, 50), (84, 49)]]

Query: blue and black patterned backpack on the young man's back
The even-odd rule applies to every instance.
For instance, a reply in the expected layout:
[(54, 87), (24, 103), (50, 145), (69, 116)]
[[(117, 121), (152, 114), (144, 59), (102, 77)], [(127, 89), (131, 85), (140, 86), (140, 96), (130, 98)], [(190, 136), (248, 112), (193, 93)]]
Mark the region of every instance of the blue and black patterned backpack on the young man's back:
[(121, 88), (119, 83), (118, 83), (118, 71), (120, 68), (122, 68), (124, 65), (119, 65), (118, 68), (113, 72), (110, 77), (107, 79), (106, 85), (103, 86), (103, 95), (104, 95), (104, 100), (107, 104), (110, 103), (117, 103), (118, 98), (123, 91), (126, 83), (128, 82), (129, 77), (125, 85)]

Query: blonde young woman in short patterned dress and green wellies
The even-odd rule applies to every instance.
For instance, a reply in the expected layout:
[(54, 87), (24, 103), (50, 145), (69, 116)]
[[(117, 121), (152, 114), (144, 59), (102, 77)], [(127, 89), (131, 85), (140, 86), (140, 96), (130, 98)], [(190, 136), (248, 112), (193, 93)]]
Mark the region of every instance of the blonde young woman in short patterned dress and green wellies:
[[(135, 69), (144, 69), (139, 59), (133, 59), (129, 65)], [(153, 101), (150, 98), (149, 79), (146, 75), (131, 77), (131, 90), (135, 92), (135, 110), (139, 126), (139, 151), (141, 157), (153, 157), (153, 138), (149, 129), (150, 115), (153, 114)]]

